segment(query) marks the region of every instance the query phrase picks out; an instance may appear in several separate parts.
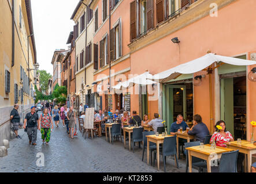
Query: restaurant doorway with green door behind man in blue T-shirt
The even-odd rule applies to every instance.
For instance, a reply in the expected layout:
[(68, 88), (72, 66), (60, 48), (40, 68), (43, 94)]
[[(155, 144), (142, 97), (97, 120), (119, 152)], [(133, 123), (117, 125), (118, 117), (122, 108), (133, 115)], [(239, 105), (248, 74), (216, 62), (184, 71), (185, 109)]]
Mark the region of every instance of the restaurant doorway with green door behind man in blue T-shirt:
[(176, 83), (165, 87), (166, 121), (169, 126), (176, 121), (179, 114), (183, 115), (184, 121), (192, 124), (194, 114), (193, 84)]

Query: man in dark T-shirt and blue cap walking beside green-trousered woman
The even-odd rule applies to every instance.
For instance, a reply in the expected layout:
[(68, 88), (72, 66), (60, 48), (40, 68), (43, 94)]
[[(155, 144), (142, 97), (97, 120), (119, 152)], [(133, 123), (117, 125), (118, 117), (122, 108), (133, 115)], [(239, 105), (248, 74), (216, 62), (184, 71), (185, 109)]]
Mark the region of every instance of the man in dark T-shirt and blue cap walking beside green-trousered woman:
[(27, 113), (24, 120), (23, 128), (27, 126), (27, 134), (29, 139), (29, 144), (36, 145), (37, 131), (39, 128), (39, 117), (36, 113), (36, 106), (30, 108), (30, 113)]

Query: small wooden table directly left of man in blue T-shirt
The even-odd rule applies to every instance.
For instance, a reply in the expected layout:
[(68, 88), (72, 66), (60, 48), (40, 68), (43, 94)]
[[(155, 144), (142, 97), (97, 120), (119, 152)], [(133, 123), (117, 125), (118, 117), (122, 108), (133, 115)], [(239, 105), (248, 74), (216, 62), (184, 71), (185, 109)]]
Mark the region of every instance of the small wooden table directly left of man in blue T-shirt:
[[(164, 143), (165, 137), (172, 137), (172, 135), (167, 135), (167, 136), (149, 135), (146, 137), (147, 137), (147, 145), (149, 145), (149, 142), (157, 144), (157, 167), (158, 167), (158, 171), (159, 171), (159, 144)], [(149, 146), (147, 146), (147, 164), (149, 165)]]

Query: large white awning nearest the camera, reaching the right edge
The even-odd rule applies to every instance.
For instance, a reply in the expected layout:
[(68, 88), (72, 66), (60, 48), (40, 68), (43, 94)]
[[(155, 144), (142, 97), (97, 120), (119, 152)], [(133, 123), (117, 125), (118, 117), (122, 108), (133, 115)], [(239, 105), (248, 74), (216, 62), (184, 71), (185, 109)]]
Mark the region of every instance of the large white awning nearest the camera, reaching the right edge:
[(201, 71), (209, 67), (214, 62), (223, 62), (236, 66), (248, 66), (256, 64), (256, 62), (252, 60), (238, 59), (235, 57), (220, 56), (215, 55), (214, 53), (208, 53), (207, 55), (199, 57), (198, 59), (192, 60), (184, 64), (180, 64), (179, 66), (170, 68), (169, 70), (160, 72), (159, 74), (155, 74), (153, 78), (148, 79), (163, 83), (165, 81), (170, 81), (171, 79), (176, 78), (180, 74), (194, 74), (195, 72)]

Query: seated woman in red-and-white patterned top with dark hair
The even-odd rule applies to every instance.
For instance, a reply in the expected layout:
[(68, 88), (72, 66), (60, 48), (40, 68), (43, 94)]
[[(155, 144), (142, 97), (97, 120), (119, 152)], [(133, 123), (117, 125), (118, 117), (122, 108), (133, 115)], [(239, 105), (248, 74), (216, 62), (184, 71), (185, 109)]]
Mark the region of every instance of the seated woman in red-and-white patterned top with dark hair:
[[(220, 127), (222, 127), (222, 129), (219, 130), (217, 128), (218, 125)], [(212, 144), (213, 141), (215, 140), (215, 143), (216, 143), (217, 146), (227, 147), (227, 145), (224, 144), (224, 143), (227, 143), (229, 141), (234, 141), (231, 133), (228, 132), (227, 129), (226, 129), (225, 121), (223, 121), (223, 120), (218, 121), (215, 125), (215, 128), (216, 128), (216, 132), (213, 133), (213, 135), (210, 139), (210, 144)]]

